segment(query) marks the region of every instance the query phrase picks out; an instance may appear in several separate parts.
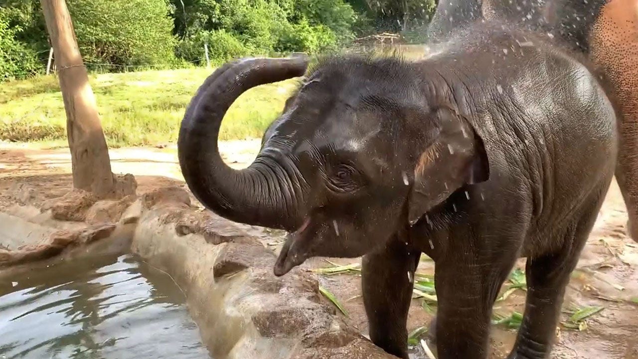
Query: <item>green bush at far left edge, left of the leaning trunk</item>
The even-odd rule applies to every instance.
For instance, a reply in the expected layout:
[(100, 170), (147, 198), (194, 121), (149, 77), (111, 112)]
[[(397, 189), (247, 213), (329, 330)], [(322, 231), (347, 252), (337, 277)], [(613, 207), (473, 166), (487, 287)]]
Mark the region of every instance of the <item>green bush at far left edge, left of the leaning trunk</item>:
[(41, 71), (38, 54), (16, 39), (20, 27), (9, 27), (0, 8), (0, 81), (25, 79)]

